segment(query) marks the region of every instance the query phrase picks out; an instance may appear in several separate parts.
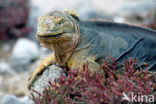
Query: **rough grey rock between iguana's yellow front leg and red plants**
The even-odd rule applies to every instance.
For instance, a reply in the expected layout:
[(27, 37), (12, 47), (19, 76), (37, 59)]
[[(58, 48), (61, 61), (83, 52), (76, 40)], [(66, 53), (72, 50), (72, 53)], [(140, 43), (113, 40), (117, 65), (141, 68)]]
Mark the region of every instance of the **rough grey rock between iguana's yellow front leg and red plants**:
[[(33, 89), (41, 93), (44, 88), (49, 86), (48, 81), (51, 81), (53, 83), (54, 79), (59, 78), (62, 72), (63, 69), (59, 68), (58, 66), (51, 65), (50, 67), (45, 69), (42, 73), (42, 76), (34, 82)], [(33, 94), (36, 96), (36, 93)]]

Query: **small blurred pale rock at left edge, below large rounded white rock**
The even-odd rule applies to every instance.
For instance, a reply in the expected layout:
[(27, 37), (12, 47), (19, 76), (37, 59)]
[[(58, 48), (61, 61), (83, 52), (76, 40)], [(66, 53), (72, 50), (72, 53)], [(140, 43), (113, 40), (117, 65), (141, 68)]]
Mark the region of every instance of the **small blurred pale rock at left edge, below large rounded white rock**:
[(6, 74), (15, 74), (16, 72), (14, 69), (11, 68), (9, 64), (6, 62), (0, 62), (0, 75), (6, 75)]

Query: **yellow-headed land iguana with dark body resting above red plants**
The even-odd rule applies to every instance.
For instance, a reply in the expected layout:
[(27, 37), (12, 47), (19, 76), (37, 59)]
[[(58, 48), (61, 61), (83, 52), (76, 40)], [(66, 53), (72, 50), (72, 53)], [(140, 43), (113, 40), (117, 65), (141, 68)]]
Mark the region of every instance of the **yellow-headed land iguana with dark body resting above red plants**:
[(151, 29), (101, 20), (83, 21), (74, 13), (52, 11), (39, 17), (36, 38), (53, 53), (29, 78), (29, 88), (51, 64), (82, 69), (88, 62), (89, 69), (97, 71), (107, 54), (117, 62), (137, 58), (141, 67), (146, 63), (149, 70), (156, 70), (156, 31)]

